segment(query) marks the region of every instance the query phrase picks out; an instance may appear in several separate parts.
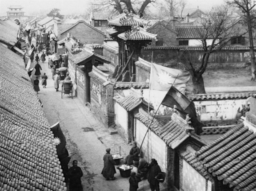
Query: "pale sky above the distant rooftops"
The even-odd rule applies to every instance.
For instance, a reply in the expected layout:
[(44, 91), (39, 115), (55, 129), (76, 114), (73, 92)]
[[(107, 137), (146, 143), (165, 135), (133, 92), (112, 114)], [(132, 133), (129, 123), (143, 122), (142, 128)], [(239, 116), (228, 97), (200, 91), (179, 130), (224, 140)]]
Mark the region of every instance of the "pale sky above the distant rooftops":
[[(7, 16), (7, 7), (10, 5), (22, 5), (25, 15), (33, 15), (35, 12), (49, 13), (51, 9), (60, 9), (61, 15), (74, 13), (83, 14), (94, 0), (0, 0), (0, 16)], [(161, 1), (161, 0), (159, 0)], [(202, 11), (209, 10), (212, 6), (222, 4), (224, 0), (186, 0), (185, 8), (197, 8)], [(154, 8), (152, 8), (153, 10)]]

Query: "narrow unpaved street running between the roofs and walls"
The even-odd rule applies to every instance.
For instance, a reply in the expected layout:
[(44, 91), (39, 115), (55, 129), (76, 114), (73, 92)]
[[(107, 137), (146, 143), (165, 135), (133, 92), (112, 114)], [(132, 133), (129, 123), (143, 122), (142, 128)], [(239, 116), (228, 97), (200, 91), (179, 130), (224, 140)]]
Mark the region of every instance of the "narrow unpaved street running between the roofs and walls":
[[(35, 42), (32, 41), (35, 44)], [(32, 44), (31, 43), (31, 44)], [(42, 52), (41, 52), (42, 53)], [(38, 54), (41, 58), (41, 53)], [(35, 61), (31, 63), (34, 67)], [(46, 73), (48, 76), (47, 86), (43, 88), (41, 85), (41, 76), (39, 78), (40, 91), (38, 98), (43, 103), (43, 110), (50, 125), (60, 121), (61, 129), (66, 137), (69, 154), (75, 153), (71, 157), (69, 167), (72, 166), (73, 160), (78, 160), (78, 166), (82, 168), (83, 177), (82, 185), (84, 191), (127, 191), (129, 190), (129, 178), (120, 176), (120, 172), (116, 169), (116, 180), (106, 181), (101, 171), (103, 168), (103, 155), (106, 148), (111, 148), (112, 154), (119, 153), (121, 147), (121, 155), (126, 156), (131, 149), (131, 145), (124, 142), (120, 135), (110, 135), (108, 130), (95, 119), (89, 108), (83, 106), (78, 98), (71, 97), (67, 94), (61, 99), (61, 83), (59, 91), (54, 89), (51, 69), (48, 68), (48, 56), (45, 63), (40, 60), (42, 67), (41, 74)], [(33, 71), (34, 74), (34, 71)], [(118, 165), (116, 165), (118, 167)], [(68, 185), (67, 185), (68, 187)], [(160, 183), (160, 188), (163, 184)], [(150, 190), (147, 180), (139, 182), (139, 191)], [(161, 189), (163, 190), (163, 189)], [(165, 190), (165, 189), (164, 189)]]

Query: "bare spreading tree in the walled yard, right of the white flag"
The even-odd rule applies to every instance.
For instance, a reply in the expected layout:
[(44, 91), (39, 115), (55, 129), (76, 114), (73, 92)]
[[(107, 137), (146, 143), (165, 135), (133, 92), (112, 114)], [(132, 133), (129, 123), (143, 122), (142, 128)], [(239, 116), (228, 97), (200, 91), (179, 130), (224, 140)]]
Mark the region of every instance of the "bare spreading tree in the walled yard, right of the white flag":
[[(202, 75), (207, 68), (210, 54), (221, 50), (232, 37), (243, 35), (239, 29), (241, 20), (238, 20), (237, 17), (230, 17), (227, 12), (228, 8), (225, 6), (214, 7), (208, 13), (208, 16), (202, 17), (200, 26), (194, 28), (198, 35), (197, 39), (202, 43), (200, 47), (203, 49), (202, 60), (199, 64), (195, 63), (193, 52), (184, 49), (181, 55), (182, 63), (191, 72), (195, 93), (197, 94), (206, 93)], [(236, 27), (236, 30), (234, 30), (234, 27)], [(236, 31), (239, 31), (239, 33)]]

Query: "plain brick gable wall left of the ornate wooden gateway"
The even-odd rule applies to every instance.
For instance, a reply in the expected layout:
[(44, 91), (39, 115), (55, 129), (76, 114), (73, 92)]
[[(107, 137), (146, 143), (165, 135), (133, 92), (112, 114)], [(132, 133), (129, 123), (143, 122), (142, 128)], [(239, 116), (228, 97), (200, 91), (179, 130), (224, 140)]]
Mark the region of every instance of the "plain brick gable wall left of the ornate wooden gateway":
[(84, 22), (79, 22), (76, 26), (72, 27), (68, 31), (65, 31), (61, 34), (60, 39), (63, 39), (67, 36), (67, 33), (70, 33), (76, 39), (79, 39), (80, 42), (86, 44), (103, 44), (105, 35), (101, 32), (94, 30), (88, 24)]

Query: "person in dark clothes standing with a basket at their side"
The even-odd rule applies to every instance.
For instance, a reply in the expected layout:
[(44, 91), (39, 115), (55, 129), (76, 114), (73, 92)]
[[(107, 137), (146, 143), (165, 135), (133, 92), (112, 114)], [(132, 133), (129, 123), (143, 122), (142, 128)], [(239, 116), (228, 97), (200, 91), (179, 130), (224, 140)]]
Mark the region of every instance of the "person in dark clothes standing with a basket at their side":
[(149, 187), (151, 189), (151, 191), (159, 191), (159, 182), (158, 180), (155, 178), (158, 173), (161, 172), (161, 169), (157, 163), (157, 161), (155, 159), (151, 159), (151, 163), (148, 166), (149, 170), (148, 170), (148, 182), (149, 182)]

